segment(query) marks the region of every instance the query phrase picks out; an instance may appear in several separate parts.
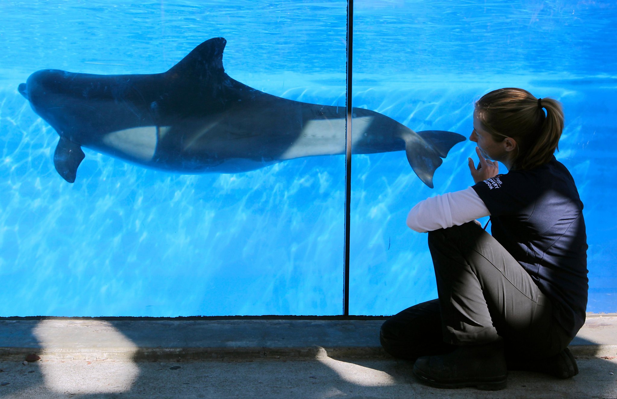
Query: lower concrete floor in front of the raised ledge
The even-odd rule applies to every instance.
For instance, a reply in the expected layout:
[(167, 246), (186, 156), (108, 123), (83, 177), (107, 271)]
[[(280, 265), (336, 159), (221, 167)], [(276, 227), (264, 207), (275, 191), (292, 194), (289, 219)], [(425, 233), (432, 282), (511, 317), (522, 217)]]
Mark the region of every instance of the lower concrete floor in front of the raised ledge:
[[(558, 380), (510, 372), (497, 392), (441, 390), (390, 359), (257, 361), (0, 361), (2, 398), (617, 398), (617, 358), (578, 360)], [(613, 374), (610, 374), (613, 372)]]

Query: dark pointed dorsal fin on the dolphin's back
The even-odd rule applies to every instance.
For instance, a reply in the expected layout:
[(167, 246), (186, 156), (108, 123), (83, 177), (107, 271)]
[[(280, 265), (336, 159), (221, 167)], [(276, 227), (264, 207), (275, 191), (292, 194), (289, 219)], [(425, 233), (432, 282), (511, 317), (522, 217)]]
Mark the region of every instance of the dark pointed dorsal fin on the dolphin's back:
[(167, 73), (180, 76), (194, 75), (218, 75), (224, 73), (223, 50), (227, 41), (223, 38), (212, 38), (204, 41), (189, 52), (178, 64), (173, 65)]

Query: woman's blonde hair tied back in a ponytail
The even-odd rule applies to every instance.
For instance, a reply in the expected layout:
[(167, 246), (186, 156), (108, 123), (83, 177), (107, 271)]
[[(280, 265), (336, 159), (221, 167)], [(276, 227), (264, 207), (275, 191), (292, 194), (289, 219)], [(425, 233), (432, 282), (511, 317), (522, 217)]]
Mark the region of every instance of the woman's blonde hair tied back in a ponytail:
[[(515, 139), (515, 169), (529, 170), (549, 162), (563, 131), (561, 103), (537, 99), (526, 90), (504, 88), (476, 101), (476, 117), (497, 142)], [(544, 113), (546, 110), (546, 114)]]

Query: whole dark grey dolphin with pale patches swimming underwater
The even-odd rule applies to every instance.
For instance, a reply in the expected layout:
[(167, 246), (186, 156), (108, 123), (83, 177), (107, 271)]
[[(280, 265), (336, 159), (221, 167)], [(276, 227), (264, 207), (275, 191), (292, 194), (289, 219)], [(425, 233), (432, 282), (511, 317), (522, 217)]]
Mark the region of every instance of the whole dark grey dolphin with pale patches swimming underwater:
[[(19, 93), (60, 135), (54, 165), (75, 181), (81, 147), (180, 173), (236, 173), (284, 160), (345, 153), (344, 107), (272, 96), (223, 69), (226, 41), (195, 47), (164, 73), (91, 75), (40, 70)], [(441, 158), (465, 138), (420, 131), (371, 110), (352, 110), (352, 153), (406, 150), (416, 175), (433, 187)]]

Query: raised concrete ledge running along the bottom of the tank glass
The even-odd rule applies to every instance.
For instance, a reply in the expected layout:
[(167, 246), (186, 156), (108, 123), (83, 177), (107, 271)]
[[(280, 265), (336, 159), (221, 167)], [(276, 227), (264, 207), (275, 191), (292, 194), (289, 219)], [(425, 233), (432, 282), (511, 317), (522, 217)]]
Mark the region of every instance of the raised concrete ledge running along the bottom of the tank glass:
[[(382, 358), (383, 319), (0, 319), (0, 360)], [(575, 356), (617, 356), (617, 315), (588, 315)]]

